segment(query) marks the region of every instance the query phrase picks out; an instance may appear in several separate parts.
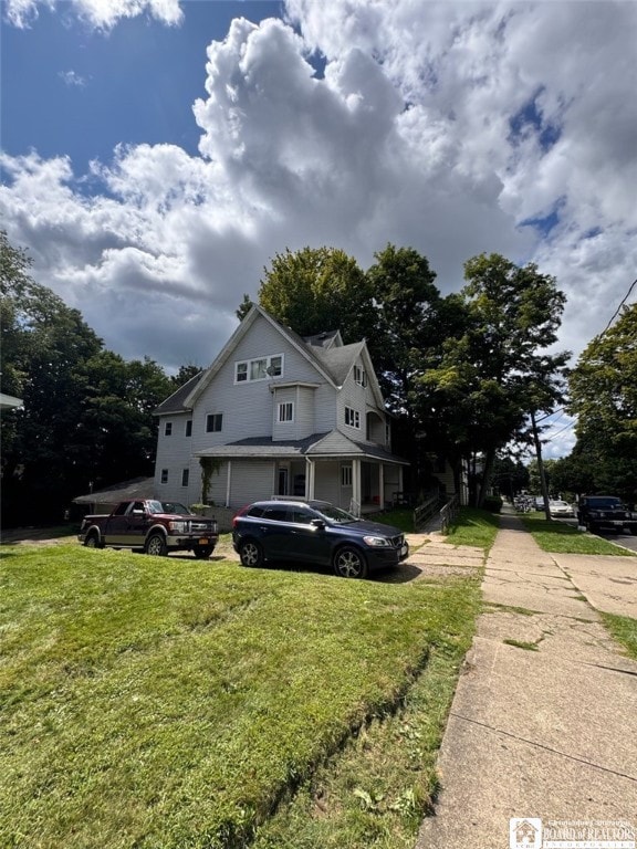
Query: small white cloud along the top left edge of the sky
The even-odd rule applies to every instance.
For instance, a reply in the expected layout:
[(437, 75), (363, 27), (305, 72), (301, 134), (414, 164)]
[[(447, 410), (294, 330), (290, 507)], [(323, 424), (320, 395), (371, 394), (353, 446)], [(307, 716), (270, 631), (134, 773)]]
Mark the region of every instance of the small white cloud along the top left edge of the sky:
[(4, 14), (14, 27), (29, 27), (40, 7), (69, 8), (90, 27), (109, 30), (123, 18), (148, 13), (165, 24), (181, 22), (179, 0), (4, 0)]

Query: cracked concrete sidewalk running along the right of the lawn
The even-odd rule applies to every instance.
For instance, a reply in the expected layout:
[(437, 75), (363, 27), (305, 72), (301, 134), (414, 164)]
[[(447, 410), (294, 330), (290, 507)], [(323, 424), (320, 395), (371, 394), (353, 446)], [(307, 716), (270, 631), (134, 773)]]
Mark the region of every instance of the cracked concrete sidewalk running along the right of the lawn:
[[(637, 618), (637, 557), (546, 554), (502, 515), (482, 590), (416, 849), (542, 847), (555, 821), (637, 830), (637, 662), (594, 609)], [(544, 838), (510, 836), (511, 818)]]

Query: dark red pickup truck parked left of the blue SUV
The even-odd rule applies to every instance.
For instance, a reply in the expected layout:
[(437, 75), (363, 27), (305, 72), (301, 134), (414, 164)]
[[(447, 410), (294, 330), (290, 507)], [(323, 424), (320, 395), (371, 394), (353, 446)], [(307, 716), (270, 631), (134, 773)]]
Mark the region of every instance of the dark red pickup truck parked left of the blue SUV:
[(123, 501), (109, 515), (84, 516), (77, 539), (88, 548), (140, 548), (163, 557), (192, 552), (210, 557), (219, 541), (217, 522), (171, 501)]

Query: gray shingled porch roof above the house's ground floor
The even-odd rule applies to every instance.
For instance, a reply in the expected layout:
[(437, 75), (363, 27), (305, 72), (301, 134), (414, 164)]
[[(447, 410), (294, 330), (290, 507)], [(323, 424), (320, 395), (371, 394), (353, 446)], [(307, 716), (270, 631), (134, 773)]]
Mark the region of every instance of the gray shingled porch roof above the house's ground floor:
[(313, 433), (305, 439), (274, 441), (272, 437), (250, 437), (224, 446), (205, 448), (196, 457), (218, 457), (248, 460), (274, 460), (294, 457), (309, 457), (313, 460), (334, 460), (357, 458), (377, 460), (396, 465), (409, 465), (409, 461), (390, 453), (382, 446), (355, 442), (344, 433), (332, 430), (327, 433)]

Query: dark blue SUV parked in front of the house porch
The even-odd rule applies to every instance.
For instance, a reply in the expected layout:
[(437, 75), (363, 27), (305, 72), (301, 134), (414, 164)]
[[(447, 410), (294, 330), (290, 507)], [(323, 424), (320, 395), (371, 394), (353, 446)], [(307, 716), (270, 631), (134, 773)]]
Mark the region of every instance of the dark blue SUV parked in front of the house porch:
[(344, 578), (365, 578), (409, 554), (399, 528), (356, 518), (326, 501), (258, 501), (240, 511), (232, 525), (243, 566), (293, 560), (331, 566)]

